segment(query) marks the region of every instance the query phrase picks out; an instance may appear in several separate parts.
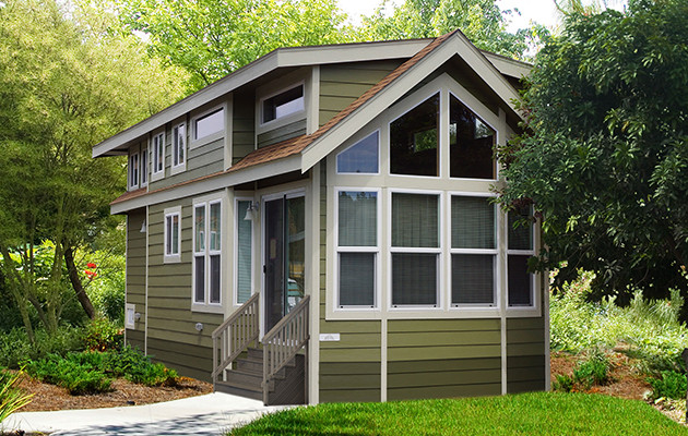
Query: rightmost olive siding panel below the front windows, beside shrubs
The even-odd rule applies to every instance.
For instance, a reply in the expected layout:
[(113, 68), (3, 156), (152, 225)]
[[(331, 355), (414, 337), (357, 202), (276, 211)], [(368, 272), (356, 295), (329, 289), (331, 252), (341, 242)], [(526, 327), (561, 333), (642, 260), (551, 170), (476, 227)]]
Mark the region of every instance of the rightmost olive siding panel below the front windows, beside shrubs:
[(507, 391), (545, 389), (545, 320), (507, 319)]

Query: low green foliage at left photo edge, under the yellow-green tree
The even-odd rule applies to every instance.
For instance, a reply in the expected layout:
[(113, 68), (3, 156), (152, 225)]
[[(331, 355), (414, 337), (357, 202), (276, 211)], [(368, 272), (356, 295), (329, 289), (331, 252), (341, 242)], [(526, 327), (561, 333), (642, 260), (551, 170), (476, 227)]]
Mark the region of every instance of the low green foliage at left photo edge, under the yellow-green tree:
[(64, 354), (83, 350), (83, 330), (62, 326), (56, 332), (36, 330), (34, 344), (23, 328), (0, 332), (0, 366), (19, 368), (27, 360), (43, 359), (48, 354)]

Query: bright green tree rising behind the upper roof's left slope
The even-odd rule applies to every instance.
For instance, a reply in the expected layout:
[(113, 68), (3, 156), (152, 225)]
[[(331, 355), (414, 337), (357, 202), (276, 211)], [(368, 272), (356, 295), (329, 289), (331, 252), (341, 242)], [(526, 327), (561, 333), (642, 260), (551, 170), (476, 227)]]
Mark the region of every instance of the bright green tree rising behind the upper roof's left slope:
[(126, 0), (123, 20), (151, 53), (210, 85), (280, 47), (352, 40), (334, 0)]

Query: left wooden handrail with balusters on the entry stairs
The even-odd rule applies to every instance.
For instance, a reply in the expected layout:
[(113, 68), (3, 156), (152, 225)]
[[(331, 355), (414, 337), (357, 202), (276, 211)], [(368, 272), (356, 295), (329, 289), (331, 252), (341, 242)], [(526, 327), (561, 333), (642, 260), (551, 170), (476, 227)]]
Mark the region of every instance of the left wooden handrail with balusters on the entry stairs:
[[(260, 335), (258, 311), (259, 293), (254, 293), (246, 303), (213, 330), (213, 388), (217, 376), (241, 354), (248, 346), (258, 341)], [(220, 343), (218, 343), (220, 342)]]

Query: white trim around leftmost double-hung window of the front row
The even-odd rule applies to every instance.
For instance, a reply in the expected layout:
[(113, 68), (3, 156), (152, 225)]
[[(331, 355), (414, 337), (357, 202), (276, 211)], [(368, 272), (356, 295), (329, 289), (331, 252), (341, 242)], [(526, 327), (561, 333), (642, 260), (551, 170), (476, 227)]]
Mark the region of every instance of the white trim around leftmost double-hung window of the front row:
[[(377, 194), (376, 202), (376, 217), (377, 217), (377, 228), (376, 228), (376, 245), (370, 246), (340, 246), (340, 205), (339, 205), (339, 195), (340, 192), (375, 192)], [(380, 262), (380, 246), (382, 239), (382, 190), (380, 189), (370, 189), (370, 187), (347, 187), (347, 186), (335, 186), (332, 190), (333, 198), (334, 198), (334, 289), (332, 292), (333, 301), (332, 307), (334, 312), (380, 312), (380, 301), (381, 294), (380, 290), (382, 289), (382, 270), (381, 270), (381, 262)], [(375, 290), (373, 290), (373, 305), (371, 307), (368, 306), (340, 306), (340, 254), (341, 253), (375, 253)]]

